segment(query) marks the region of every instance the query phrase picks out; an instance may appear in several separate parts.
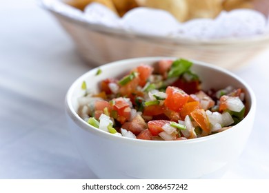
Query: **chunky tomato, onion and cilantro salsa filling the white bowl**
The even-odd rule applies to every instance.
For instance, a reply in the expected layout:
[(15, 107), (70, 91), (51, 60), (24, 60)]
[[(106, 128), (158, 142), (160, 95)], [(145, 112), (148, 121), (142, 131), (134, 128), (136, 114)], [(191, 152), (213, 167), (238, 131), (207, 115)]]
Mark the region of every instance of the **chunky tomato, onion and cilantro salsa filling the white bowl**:
[[(83, 81), (79, 116), (99, 130), (144, 140), (186, 140), (228, 130), (245, 115), (244, 92), (228, 86), (201, 90), (185, 59), (137, 66), (91, 93)], [(101, 70), (98, 70), (98, 74)]]

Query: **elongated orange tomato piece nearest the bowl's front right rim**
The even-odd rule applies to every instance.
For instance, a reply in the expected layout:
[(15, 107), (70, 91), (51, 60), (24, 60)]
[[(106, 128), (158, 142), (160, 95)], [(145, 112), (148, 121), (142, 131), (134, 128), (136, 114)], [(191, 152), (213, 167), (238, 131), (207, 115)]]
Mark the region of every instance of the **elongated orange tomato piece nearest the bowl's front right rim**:
[(203, 131), (206, 133), (210, 132), (210, 122), (208, 116), (206, 115), (205, 110), (203, 109), (196, 109), (190, 113), (192, 118), (195, 120), (196, 123), (201, 127)]

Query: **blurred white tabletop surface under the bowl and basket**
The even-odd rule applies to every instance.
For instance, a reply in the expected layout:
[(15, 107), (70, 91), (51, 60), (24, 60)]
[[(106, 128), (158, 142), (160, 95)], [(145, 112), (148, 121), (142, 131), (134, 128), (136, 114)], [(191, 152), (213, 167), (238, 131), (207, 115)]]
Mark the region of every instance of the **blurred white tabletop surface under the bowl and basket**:
[[(92, 179), (66, 123), (65, 94), (90, 70), (34, 0), (0, 0), (0, 179)], [(269, 49), (235, 71), (257, 95), (255, 127), (223, 179), (269, 179)]]

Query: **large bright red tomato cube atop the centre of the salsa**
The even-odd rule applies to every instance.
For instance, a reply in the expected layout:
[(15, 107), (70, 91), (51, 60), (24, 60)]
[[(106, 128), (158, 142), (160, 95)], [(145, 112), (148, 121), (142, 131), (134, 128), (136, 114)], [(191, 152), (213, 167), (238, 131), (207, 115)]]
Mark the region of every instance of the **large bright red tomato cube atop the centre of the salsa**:
[(166, 88), (166, 94), (167, 98), (164, 104), (175, 112), (179, 112), (189, 99), (189, 95), (186, 92), (174, 86), (168, 86)]

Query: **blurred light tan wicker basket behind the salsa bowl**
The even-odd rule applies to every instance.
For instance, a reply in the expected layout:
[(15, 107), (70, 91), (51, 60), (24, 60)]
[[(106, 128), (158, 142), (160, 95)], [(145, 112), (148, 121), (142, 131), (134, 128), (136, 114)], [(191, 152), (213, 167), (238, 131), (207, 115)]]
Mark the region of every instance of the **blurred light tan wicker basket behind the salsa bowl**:
[(195, 59), (234, 70), (247, 65), (269, 45), (269, 34), (212, 41), (152, 37), (86, 23), (45, 8), (59, 20), (77, 45), (81, 57), (90, 65), (134, 57), (163, 56)]

